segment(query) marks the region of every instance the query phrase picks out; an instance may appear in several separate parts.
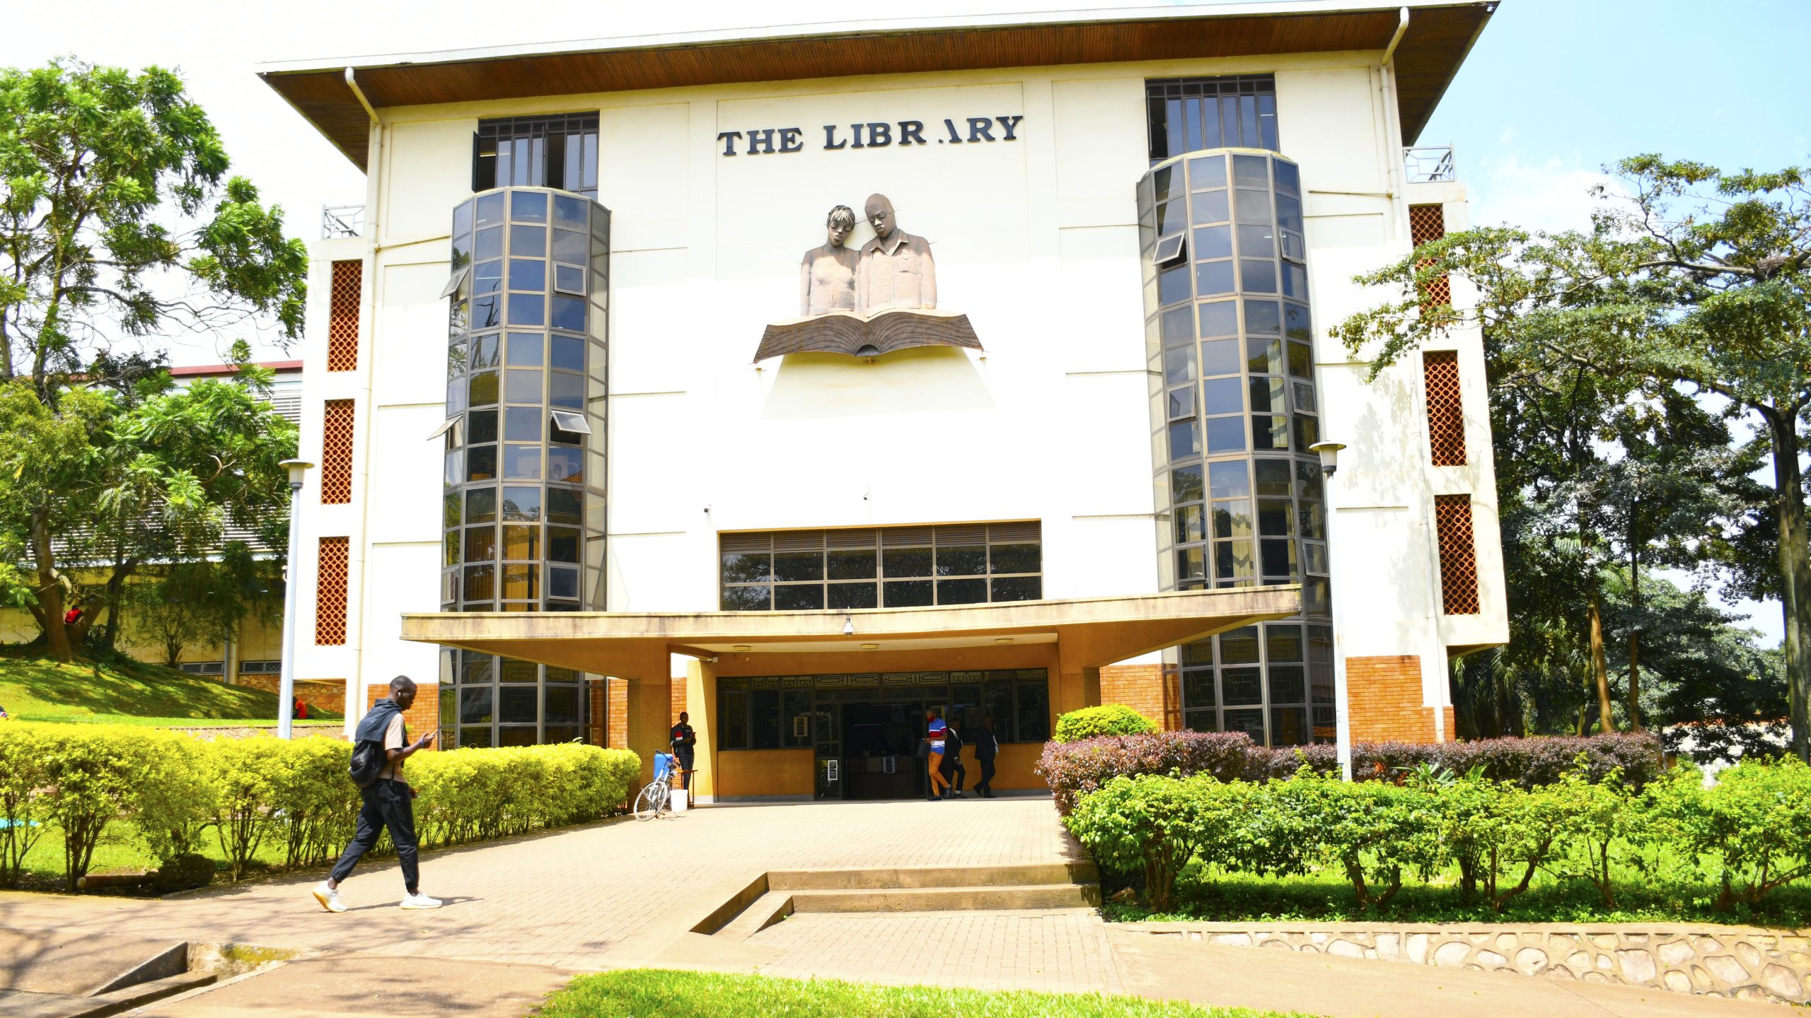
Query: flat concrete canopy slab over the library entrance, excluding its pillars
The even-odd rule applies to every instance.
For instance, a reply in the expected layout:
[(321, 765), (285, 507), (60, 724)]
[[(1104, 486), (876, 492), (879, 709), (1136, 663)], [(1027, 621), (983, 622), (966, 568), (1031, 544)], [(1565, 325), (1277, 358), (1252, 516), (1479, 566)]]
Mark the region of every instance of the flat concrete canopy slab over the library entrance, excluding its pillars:
[(1097, 668), (1300, 610), (1302, 589), (1289, 583), (853, 612), (422, 612), (402, 616), (402, 638), (656, 681), (668, 677), (668, 654), (869, 652), (884, 670), (889, 652), (1001, 643), (1054, 643), (1065, 668)]

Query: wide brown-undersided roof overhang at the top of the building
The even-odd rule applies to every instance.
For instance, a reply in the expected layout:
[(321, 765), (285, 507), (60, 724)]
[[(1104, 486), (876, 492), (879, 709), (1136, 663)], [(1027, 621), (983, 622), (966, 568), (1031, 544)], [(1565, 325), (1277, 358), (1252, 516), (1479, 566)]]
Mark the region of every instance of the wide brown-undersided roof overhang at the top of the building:
[(1396, 105), (1414, 143), (1496, 0), (1284, 0), (775, 25), (264, 63), (259, 76), (359, 168), (375, 109), (688, 85), (1288, 53), (1382, 51), (1398, 11)]

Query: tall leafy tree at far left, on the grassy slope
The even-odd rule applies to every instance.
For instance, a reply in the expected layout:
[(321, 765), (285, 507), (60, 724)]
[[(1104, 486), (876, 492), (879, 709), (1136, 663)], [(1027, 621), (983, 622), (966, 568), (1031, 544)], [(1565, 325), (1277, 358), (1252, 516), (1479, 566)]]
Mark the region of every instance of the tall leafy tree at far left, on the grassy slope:
[[(283, 337), (301, 331), (306, 248), (284, 237), (281, 208), (226, 168), (214, 125), (168, 71), (76, 60), (0, 69), (0, 404), (34, 440), (11, 449), (18, 502), (0, 511), (16, 525), (33, 614), (60, 659), (72, 650), (60, 549), (101, 520), (81, 520), (83, 505), (60, 495), (69, 489), (45, 482), (74, 482), (112, 522), (138, 493), (181, 523), (205, 476), (150, 476), (156, 466), (125, 458), (112, 424), (129, 400), (96, 388), (89, 370), (105, 373), (101, 355), (120, 337), (252, 319), (273, 321)], [(125, 480), (96, 484), (109, 467)]]

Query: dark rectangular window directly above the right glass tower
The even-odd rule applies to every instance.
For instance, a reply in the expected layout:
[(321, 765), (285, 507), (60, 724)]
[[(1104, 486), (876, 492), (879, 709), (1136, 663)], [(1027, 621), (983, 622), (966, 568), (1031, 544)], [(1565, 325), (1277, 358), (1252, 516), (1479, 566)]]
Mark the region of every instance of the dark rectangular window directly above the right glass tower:
[(1145, 82), (1152, 165), (1203, 149), (1277, 150), (1277, 80), (1270, 74)]

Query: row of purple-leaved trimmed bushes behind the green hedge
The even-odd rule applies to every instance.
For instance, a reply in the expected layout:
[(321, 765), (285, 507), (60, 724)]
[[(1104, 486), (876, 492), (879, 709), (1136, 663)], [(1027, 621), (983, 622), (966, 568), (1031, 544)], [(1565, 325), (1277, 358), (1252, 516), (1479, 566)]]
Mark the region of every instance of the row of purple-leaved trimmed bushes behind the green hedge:
[[(1590, 735), (1478, 739), (1474, 743), (1355, 743), (1353, 775), (1360, 781), (1400, 784), (1416, 770), (1449, 770), (1507, 781), (1519, 788), (1554, 784), (1583, 755), (1586, 781), (1610, 773), (1634, 790), (1661, 770), (1661, 744), (1652, 735)], [(1241, 732), (1155, 732), (1150, 735), (1097, 735), (1078, 743), (1045, 743), (1038, 775), (1049, 783), (1056, 810), (1068, 815), (1076, 801), (1117, 775), (1210, 773), (1221, 781), (1275, 781), (1302, 766), (1313, 773), (1338, 773), (1333, 746), (1266, 748)]]

